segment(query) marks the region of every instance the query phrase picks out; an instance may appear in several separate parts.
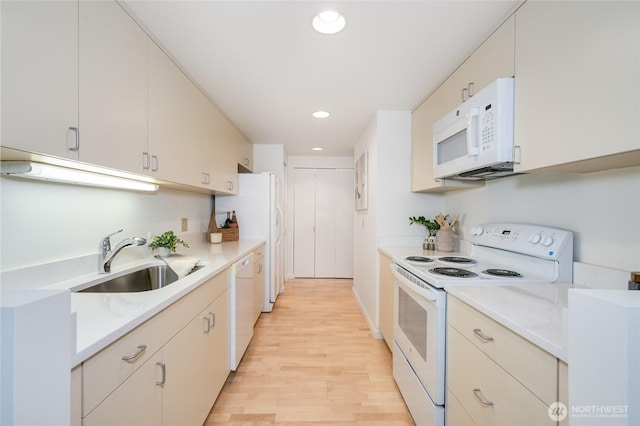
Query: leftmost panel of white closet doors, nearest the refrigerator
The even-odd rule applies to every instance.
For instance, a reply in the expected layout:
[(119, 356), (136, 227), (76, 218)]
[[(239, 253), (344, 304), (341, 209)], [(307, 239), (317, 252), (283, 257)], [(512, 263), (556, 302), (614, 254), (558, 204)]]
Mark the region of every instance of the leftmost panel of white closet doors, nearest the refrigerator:
[(313, 169), (294, 170), (293, 274), (296, 277), (315, 276), (315, 173)]

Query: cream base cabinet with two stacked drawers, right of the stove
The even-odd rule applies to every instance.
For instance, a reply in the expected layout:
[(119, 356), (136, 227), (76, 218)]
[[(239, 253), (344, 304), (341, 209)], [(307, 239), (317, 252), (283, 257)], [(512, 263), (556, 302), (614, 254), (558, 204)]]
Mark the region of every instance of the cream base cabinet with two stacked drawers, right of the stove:
[(455, 297), (447, 309), (447, 425), (556, 425), (558, 359)]

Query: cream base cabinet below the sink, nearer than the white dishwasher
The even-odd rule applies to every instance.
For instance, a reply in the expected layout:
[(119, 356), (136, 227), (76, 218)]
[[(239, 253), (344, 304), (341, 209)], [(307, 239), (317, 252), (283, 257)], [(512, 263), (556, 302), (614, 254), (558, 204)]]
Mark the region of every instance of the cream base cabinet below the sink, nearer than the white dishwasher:
[(83, 363), (82, 424), (202, 424), (228, 374), (225, 271)]

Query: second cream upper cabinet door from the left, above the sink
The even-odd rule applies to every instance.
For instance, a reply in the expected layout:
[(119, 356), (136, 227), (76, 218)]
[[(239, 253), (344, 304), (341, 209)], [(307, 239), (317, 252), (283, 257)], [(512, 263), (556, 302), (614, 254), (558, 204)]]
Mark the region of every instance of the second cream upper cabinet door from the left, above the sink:
[(80, 160), (140, 172), (147, 36), (114, 1), (80, 2)]

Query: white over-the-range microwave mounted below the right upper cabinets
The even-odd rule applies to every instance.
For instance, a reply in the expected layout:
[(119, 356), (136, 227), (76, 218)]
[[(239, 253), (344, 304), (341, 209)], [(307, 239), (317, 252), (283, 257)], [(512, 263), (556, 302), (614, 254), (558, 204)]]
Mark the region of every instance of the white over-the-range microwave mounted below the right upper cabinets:
[(436, 178), (513, 174), (513, 78), (499, 78), (433, 125)]

